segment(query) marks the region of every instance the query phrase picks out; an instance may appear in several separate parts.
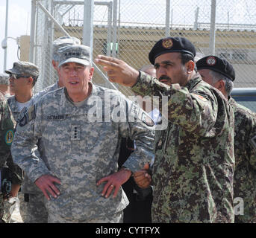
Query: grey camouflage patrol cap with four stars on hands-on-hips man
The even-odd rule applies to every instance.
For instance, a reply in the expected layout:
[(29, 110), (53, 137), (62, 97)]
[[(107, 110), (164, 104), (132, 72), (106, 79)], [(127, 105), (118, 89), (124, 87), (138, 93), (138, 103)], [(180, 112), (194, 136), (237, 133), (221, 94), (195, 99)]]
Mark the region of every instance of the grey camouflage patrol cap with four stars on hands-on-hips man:
[(58, 51), (59, 67), (66, 62), (77, 62), (82, 65), (90, 65), (90, 47), (86, 45), (68, 45)]

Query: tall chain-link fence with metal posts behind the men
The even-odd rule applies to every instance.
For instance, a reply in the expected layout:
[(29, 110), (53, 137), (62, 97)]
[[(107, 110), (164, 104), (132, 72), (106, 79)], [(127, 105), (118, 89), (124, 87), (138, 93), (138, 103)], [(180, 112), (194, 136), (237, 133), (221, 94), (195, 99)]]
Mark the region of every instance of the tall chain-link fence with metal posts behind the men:
[[(84, 23), (84, 1), (35, 3), (34, 62), (41, 72), (36, 88), (39, 91), (56, 80), (51, 66), (53, 40), (63, 36), (66, 30), (82, 42), (83, 27), (88, 22)], [(95, 0), (93, 59), (98, 54), (107, 54), (141, 68), (149, 65), (148, 54), (157, 40), (164, 36), (184, 36), (199, 53), (215, 53), (231, 62), (237, 75), (235, 87), (253, 87), (256, 86), (255, 13), (256, 1), (252, 0)], [(110, 87), (99, 71), (93, 80)], [(131, 94), (128, 89), (120, 86), (118, 89)]]

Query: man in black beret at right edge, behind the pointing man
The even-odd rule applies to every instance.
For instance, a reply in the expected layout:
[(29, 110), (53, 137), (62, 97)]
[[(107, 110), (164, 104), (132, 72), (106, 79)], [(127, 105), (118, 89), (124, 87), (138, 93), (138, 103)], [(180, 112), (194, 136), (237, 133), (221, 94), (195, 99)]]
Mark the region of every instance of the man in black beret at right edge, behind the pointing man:
[[(255, 112), (240, 105), (230, 96), (235, 79), (235, 71), (231, 63), (225, 59), (209, 55), (196, 62), (196, 65), (202, 79), (219, 89), (228, 98), (228, 103), (234, 110), (235, 222), (256, 222)], [(237, 211), (238, 213), (236, 213)]]

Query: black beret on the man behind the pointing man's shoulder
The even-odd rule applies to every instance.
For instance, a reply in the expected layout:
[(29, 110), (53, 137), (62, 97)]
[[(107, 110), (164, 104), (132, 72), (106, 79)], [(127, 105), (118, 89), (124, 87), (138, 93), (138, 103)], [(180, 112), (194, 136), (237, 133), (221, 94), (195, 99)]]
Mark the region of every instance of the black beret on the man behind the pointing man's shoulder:
[(196, 62), (196, 68), (199, 69), (210, 69), (216, 71), (219, 74), (223, 74), (225, 77), (228, 77), (230, 80), (234, 81), (235, 72), (233, 66), (225, 59), (220, 59), (213, 55), (208, 55)]

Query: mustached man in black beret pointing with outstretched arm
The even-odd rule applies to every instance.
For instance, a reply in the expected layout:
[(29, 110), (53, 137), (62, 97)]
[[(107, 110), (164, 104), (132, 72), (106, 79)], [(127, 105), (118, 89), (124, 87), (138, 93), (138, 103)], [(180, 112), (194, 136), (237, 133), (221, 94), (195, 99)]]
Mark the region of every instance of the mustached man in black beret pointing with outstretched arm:
[(149, 53), (158, 80), (122, 60), (96, 58), (111, 81), (159, 96), (168, 118), (155, 135), (152, 222), (234, 222), (234, 112), (194, 71), (195, 54), (183, 37), (160, 39)]

